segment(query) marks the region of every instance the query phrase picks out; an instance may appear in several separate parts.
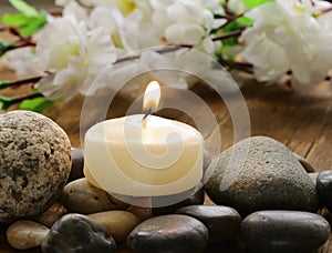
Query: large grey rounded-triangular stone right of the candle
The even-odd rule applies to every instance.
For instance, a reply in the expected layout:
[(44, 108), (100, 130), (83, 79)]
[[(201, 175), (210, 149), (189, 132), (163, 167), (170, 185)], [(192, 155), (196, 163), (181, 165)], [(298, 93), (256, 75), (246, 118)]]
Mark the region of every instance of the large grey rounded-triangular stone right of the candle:
[[(246, 158), (241, 168), (237, 161), (229, 163), (234, 150), (238, 158)], [(212, 161), (207, 174), (211, 174), (205, 185), (209, 198), (242, 215), (259, 210), (317, 211), (320, 206), (308, 173), (282, 143), (270, 138), (238, 142)]]

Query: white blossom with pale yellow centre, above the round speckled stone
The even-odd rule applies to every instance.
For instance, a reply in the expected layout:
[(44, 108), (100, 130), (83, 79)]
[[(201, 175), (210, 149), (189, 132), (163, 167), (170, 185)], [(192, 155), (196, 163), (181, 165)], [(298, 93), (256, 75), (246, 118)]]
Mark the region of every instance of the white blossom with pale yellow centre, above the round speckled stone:
[(54, 73), (39, 83), (50, 99), (69, 100), (77, 91), (86, 94), (97, 73), (116, 60), (107, 32), (103, 28), (87, 31), (73, 16), (48, 23), (35, 39), (40, 64)]

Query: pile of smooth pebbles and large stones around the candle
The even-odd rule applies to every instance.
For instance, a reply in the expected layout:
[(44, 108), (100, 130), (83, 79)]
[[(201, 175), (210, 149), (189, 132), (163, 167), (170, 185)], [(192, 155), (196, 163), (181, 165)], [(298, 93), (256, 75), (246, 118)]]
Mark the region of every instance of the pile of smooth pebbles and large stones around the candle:
[[(23, 112), (22, 119), (27, 120), (27, 113)], [(31, 117), (30, 112), (28, 114)], [(34, 117), (40, 118), (32, 114)], [(15, 118), (20, 119), (18, 114)], [(41, 133), (44, 130), (38, 131)], [(3, 136), (8, 139), (10, 132), (0, 130), (0, 180), (6, 180), (3, 168), (9, 168), (4, 166), (10, 160), (8, 156), (4, 159), (4, 154), (10, 154), (8, 149), (19, 153), (19, 150), (24, 151), (32, 145), (13, 148), (3, 144)], [(60, 132), (56, 132), (56, 138)], [(52, 142), (54, 139), (45, 141), (49, 149)], [(41, 142), (37, 140), (33, 145), (41, 145)], [(43, 152), (48, 146), (43, 148)], [(230, 170), (237, 165), (230, 159), (235, 150), (247, 158), (238, 174), (235, 174), (236, 170)], [(63, 160), (65, 165), (55, 164), (58, 169), (52, 171), (66, 171), (65, 175), (60, 173), (58, 179), (61, 183), (55, 185), (53, 195), (48, 191), (43, 201), (35, 201), (39, 208), (33, 212), (38, 215), (28, 210), (28, 202), (31, 201), (28, 198), (20, 201), (15, 200), (15, 194), (9, 195), (12, 200), (0, 198), (1, 223), (8, 224), (7, 240), (14, 249), (40, 246), (46, 253), (116, 252), (118, 246), (125, 245), (134, 252), (207, 252), (215, 245), (237, 242), (252, 252), (312, 252), (323, 245), (331, 234), (329, 222), (317, 212), (323, 206), (332, 211), (332, 171), (308, 173), (312, 171), (308, 161), (299, 161), (282, 143), (270, 138), (246, 139), (212, 161), (205, 154), (205, 170), (210, 178), (206, 179), (204, 189), (180, 203), (158, 209), (128, 205), (90, 184), (82, 173), (82, 150), (68, 151), (66, 148), (50, 155), (59, 155), (58, 161), (68, 156), (68, 152), (71, 152), (72, 168), (63, 169), (68, 168), (66, 160)], [(39, 158), (38, 154), (31, 155)], [(43, 154), (43, 159), (44, 165), (50, 156)], [(25, 168), (24, 173), (29, 171), (28, 185), (37, 184), (33, 173), (42, 170), (33, 171), (31, 164), (25, 159), (20, 166), (20, 170)], [(46, 170), (51, 169), (48, 166)], [(15, 183), (22, 184), (18, 180), (22, 174), (8, 176), (12, 184), (8, 189), (13, 189)], [(46, 184), (50, 179), (45, 176), (40, 180)], [(229, 180), (232, 182), (229, 183)], [(21, 188), (20, 193), (25, 194), (28, 186)], [(2, 193), (8, 189), (1, 185)], [(43, 186), (28, 189), (28, 192), (33, 189), (33, 194), (45, 191)], [(204, 204), (205, 193), (215, 205)], [(25, 212), (21, 208), (19, 214), (14, 213), (11, 208), (13, 201), (18, 206), (28, 206)]]

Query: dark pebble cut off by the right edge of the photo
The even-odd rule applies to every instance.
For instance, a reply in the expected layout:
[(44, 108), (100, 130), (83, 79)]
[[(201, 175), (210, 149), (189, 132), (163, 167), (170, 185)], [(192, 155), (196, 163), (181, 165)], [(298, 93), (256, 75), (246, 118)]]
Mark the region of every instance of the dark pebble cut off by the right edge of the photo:
[(317, 176), (317, 189), (321, 201), (332, 212), (332, 171), (322, 171)]

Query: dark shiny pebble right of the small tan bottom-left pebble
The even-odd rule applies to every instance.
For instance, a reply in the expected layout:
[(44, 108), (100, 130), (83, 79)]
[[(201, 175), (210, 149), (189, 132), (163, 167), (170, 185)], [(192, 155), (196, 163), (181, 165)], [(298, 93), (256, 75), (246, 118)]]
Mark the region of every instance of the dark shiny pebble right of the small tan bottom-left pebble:
[(116, 243), (108, 231), (81, 214), (66, 214), (54, 223), (42, 242), (44, 253), (112, 253)]

